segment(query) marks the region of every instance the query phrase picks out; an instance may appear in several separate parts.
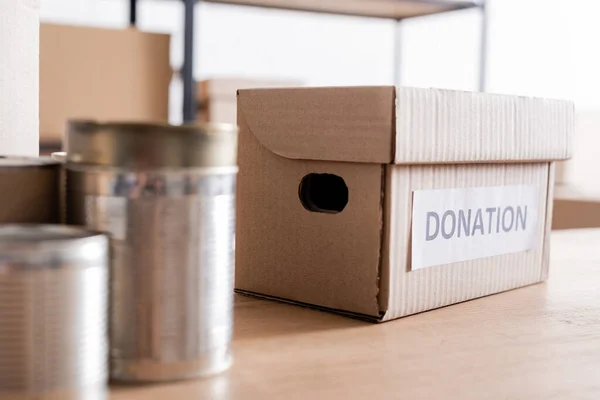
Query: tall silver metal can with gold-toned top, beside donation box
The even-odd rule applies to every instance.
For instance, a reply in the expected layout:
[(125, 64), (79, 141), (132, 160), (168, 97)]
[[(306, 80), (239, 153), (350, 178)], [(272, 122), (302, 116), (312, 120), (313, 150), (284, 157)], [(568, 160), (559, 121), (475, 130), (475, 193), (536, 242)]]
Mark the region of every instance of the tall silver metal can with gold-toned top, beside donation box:
[(231, 363), (237, 128), (71, 122), (67, 221), (109, 232), (111, 377)]

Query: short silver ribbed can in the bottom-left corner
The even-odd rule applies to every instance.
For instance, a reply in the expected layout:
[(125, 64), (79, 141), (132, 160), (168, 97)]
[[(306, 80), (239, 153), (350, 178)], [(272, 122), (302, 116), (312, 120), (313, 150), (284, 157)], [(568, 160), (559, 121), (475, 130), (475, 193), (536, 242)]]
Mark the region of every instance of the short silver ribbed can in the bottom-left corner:
[(107, 397), (108, 251), (79, 228), (0, 226), (0, 399)]

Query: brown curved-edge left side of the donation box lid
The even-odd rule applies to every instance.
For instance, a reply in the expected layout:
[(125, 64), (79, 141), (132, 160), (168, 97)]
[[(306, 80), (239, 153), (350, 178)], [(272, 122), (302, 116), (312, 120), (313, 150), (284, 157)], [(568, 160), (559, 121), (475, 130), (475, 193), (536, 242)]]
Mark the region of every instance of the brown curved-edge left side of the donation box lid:
[(238, 108), (261, 144), (282, 157), (393, 160), (391, 86), (240, 90)]

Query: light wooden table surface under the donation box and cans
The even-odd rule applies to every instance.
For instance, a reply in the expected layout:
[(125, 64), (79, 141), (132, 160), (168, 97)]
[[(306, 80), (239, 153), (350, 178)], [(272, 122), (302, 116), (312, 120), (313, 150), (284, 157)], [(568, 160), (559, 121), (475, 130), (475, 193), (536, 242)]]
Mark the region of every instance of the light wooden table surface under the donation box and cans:
[(600, 399), (600, 230), (553, 233), (550, 275), (380, 325), (239, 297), (231, 370), (110, 400)]

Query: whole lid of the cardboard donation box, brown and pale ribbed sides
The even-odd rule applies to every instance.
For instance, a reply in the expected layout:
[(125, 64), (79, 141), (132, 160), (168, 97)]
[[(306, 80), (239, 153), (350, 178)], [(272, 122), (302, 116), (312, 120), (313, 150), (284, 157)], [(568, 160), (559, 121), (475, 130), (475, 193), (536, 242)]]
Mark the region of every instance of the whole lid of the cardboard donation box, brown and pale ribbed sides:
[(380, 87), (238, 91), (270, 151), (291, 159), (451, 164), (567, 159), (572, 102)]

